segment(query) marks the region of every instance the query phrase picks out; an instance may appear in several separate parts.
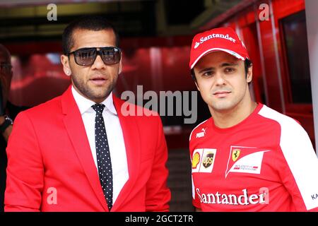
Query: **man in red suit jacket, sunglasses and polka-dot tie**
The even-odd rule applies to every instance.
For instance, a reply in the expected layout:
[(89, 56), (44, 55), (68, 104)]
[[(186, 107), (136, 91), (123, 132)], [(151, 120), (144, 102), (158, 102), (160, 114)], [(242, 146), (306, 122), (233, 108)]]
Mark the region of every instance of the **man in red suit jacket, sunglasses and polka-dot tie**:
[[(5, 210), (168, 211), (160, 117), (125, 116), (127, 105), (112, 95), (122, 71), (117, 32), (104, 18), (88, 16), (64, 30), (63, 44), (61, 62), (72, 85), (16, 117), (6, 150)], [(97, 112), (92, 107), (100, 104), (105, 105), (103, 141), (109, 143), (112, 167), (107, 184), (94, 138)]]

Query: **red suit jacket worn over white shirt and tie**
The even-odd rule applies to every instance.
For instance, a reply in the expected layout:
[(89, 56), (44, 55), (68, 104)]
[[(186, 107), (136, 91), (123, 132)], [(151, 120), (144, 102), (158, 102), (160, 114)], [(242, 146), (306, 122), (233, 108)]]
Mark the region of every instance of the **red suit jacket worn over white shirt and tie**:
[[(167, 145), (160, 117), (124, 117), (124, 101), (113, 100), (129, 179), (111, 211), (167, 211)], [(71, 87), (20, 112), (6, 151), (5, 211), (108, 211)]]

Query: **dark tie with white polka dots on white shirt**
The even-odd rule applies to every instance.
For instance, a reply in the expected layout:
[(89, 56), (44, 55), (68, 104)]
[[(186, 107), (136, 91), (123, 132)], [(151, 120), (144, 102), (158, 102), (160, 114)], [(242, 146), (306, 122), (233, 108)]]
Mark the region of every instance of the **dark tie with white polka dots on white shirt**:
[(95, 104), (92, 106), (96, 112), (95, 117), (95, 145), (98, 160), (98, 174), (100, 176), (100, 184), (107, 201), (109, 209), (112, 208), (112, 161), (110, 160), (110, 147), (107, 141), (104, 119), (102, 110), (105, 105)]

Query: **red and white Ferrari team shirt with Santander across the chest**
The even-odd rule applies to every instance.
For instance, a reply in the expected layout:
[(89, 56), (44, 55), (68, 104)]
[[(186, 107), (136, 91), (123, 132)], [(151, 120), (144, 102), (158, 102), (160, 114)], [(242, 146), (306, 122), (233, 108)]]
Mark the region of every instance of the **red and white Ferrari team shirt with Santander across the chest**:
[(227, 129), (190, 135), (192, 197), (203, 211), (318, 210), (318, 159), (297, 121), (259, 104)]

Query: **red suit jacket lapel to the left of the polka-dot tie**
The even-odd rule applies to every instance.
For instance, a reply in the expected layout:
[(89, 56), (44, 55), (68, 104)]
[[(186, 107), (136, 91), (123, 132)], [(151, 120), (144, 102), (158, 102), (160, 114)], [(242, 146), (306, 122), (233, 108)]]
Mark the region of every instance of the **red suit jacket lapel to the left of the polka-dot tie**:
[(98, 197), (98, 200), (102, 204), (102, 207), (105, 211), (108, 211), (102, 187), (100, 186), (98, 172), (95, 167), (92, 152), (90, 151), (90, 145), (86, 136), (83, 119), (71, 93), (71, 86), (61, 97), (61, 107), (63, 114), (65, 115), (64, 124), (66, 131), (69, 133), (69, 138), (73, 144), (78, 159), (81, 162), (86, 177)]

